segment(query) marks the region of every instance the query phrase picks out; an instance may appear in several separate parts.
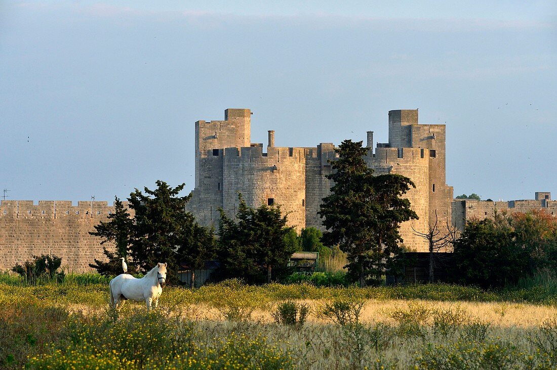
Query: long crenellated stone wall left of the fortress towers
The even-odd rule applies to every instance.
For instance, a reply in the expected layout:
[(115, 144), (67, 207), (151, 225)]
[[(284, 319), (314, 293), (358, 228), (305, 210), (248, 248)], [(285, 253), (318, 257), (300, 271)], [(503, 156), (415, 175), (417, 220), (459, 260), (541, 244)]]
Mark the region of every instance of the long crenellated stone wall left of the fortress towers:
[[(89, 235), (106, 220), (114, 206), (106, 201), (2, 200), (0, 203), (0, 271), (31, 260), (33, 255), (55, 254), (68, 272), (91, 272), (89, 263), (104, 259), (100, 238)], [(114, 245), (105, 244), (107, 248)]]

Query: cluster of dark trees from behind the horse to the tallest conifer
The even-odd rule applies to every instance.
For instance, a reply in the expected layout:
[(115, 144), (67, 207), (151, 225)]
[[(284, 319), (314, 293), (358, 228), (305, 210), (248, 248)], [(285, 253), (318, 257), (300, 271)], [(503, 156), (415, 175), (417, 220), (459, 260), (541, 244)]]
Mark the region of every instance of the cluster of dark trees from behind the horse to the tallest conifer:
[(301, 235), (286, 226), (286, 215), (280, 206), (261, 204), (247, 206), (238, 195), (238, 211), (229, 217), (221, 210), (218, 230), (199, 225), (194, 216), (185, 211), (189, 196), (179, 196), (184, 184), (176, 188), (157, 181), (157, 189), (138, 189), (128, 198), (129, 209), (115, 199), (115, 212), (108, 221), (95, 226), (92, 235), (108, 241), (116, 248), (104, 248), (108, 262), (95, 259), (90, 267), (102, 275), (122, 273), (121, 259), (128, 264), (129, 273), (144, 273), (158, 262), (167, 262), (172, 273), (169, 282), (177, 283), (177, 272), (185, 267), (192, 272), (203, 269), (205, 263), (218, 260), (220, 268), (214, 279), (239, 278), (258, 284), (282, 279), (291, 273), (290, 256), (295, 251), (332, 253), (320, 241), (321, 233), (314, 228), (302, 230)]

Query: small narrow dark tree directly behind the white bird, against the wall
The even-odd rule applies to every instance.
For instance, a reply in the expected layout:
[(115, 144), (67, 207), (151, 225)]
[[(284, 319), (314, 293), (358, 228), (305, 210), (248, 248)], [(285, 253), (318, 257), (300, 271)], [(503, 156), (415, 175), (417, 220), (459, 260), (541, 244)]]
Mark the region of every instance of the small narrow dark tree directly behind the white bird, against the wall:
[[(133, 238), (134, 221), (130, 218), (128, 209), (125, 208), (121, 200), (116, 196), (114, 199), (114, 213), (108, 215), (108, 221), (101, 221), (95, 226), (95, 231), (89, 234), (99, 236), (102, 238), (101, 245), (107, 241), (113, 242), (116, 245), (114, 252), (106, 249), (103, 245), (102, 253), (108, 258), (108, 262), (95, 259), (95, 263), (90, 263), (89, 266), (97, 270), (101, 275), (111, 276), (119, 275), (122, 271), (122, 260), (128, 256), (128, 248), (130, 241)], [(128, 265), (128, 273), (133, 274), (137, 272), (137, 267), (130, 259), (126, 260)]]

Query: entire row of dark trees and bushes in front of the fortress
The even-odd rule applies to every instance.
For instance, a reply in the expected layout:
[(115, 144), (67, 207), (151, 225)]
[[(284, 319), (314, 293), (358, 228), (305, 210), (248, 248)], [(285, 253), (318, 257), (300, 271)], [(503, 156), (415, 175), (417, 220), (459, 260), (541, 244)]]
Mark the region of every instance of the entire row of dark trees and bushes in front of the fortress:
[[(318, 251), (320, 258), (343, 253), (345, 283), (365, 287), (383, 284), (386, 273), (402, 277), (408, 260), (400, 247), (399, 225), (418, 218), (404, 198), (415, 185), (401, 175), (375, 175), (364, 160), (368, 150), (361, 141), (351, 140), (335, 149), (338, 159), (330, 161), (333, 172), (326, 176), (333, 186), (318, 213), (326, 228), (323, 235), (313, 228), (297, 235), (286, 226), (287, 215), (281, 213), (280, 205), (262, 203), (251, 208), (241, 194), (237, 214), (220, 210), (218, 229), (209, 229), (185, 211), (190, 196), (178, 195), (184, 184), (172, 188), (157, 181), (155, 190), (135, 189), (130, 194), (133, 218), (116, 198), (115, 213), (91, 233), (102, 238), (102, 243), (114, 243), (116, 249), (105, 248), (109, 261), (95, 260), (90, 266), (103, 275), (114, 275), (122, 272), (122, 258), (128, 261), (130, 273), (167, 262), (169, 282), (174, 279), (176, 283), (180, 266), (193, 273), (207, 261), (218, 260), (215, 280), (240, 278), (258, 284), (285, 278), (291, 273), (292, 253), (305, 250)], [(437, 223), (429, 229), (418, 235), (428, 240), (431, 256), (439, 249), (450, 249), (450, 245), (444, 248), (447, 240), (454, 248), (448, 266), (452, 282), (488, 288), (516, 284), (540, 273), (555, 278), (557, 222), (546, 213), (499, 214), (495, 221), (469, 221), (458, 239), (439, 235)], [(430, 258), (433, 282), (432, 263)], [(192, 285), (194, 280), (192, 274)]]

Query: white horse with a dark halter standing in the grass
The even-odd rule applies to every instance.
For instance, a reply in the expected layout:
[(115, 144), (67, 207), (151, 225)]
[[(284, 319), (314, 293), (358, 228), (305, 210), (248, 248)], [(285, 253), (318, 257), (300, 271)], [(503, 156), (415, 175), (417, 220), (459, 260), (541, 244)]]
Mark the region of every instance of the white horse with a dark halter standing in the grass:
[(126, 299), (131, 299), (144, 300), (148, 310), (151, 304), (157, 308), (166, 281), (166, 263), (158, 263), (141, 279), (136, 279), (130, 274), (120, 274), (110, 280), (110, 305), (118, 308)]

